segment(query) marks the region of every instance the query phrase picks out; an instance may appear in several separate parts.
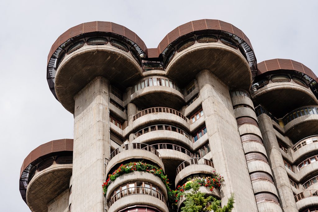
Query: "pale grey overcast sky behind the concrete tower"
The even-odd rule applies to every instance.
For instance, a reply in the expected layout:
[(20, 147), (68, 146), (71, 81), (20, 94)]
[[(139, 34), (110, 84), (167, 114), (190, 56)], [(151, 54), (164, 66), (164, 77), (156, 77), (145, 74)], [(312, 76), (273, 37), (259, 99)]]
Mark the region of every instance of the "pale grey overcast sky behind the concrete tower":
[[(261, 2), (261, 3), (259, 3)], [(299, 61), (318, 75), (318, 1), (9, 1), (0, 6), (0, 211), (29, 211), (19, 193), (24, 158), (50, 140), (73, 138), (73, 115), (46, 81), (47, 55), (67, 29), (111, 21), (157, 47), (176, 26), (219, 19), (244, 31), (258, 62)], [(234, 71), (234, 70), (233, 70)]]

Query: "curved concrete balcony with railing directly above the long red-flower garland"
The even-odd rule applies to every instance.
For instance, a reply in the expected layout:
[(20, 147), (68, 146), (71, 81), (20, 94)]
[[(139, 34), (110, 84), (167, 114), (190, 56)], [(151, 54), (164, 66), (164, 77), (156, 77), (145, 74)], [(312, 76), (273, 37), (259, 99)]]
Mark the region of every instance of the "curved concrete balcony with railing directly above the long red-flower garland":
[(128, 160), (148, 160), (157, 164), (164, 171), (161, 155), (152, 146), (143, 143), (129, 143), (115, 149), (109, 157), (106, 173), (108, 173), (117, 164), (121, 164)]

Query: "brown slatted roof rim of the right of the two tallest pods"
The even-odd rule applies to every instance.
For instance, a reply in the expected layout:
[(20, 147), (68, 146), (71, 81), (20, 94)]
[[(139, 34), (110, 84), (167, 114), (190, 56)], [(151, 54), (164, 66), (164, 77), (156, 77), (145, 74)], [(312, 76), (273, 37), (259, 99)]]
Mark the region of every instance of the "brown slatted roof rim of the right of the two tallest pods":
[(247, 38), (244, 32), (240, 30), (239, 28), (237, 28), (236, 26), (230, 23), (220, 21), (220, 20), (215, 20), (215, 19), (200, 19), (200, 20), (190, 21), (188, 23), (182, 24), (176, 27), (174, 30), (170, 31), (159, 43), (157, 47), (158, 54), (161, 54), (165, 50), (165, 48), (167, 48), (169, 44), (171, 44), (176, 39), (186, 34), (189, 34), (191, 32), (201, 31), (201, 30), (221, 30), (221, 31), (229, 32), (231, 34), (238, 36), (242, 40), (244, 40), (246, 44), (248, 44), (250, 48), (253, 50), (250, 40)]

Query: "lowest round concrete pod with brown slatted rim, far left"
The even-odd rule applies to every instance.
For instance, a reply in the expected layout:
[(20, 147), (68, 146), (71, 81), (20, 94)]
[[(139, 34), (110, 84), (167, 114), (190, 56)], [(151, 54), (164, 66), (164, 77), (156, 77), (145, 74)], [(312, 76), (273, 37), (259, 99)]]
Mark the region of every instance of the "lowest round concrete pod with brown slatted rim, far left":
[(30, 209), (47, 211), (47, 202), (69, 187), (72, 154), (73, 139), (61, 139), (40, 145), (24, 159), (19, 189)]

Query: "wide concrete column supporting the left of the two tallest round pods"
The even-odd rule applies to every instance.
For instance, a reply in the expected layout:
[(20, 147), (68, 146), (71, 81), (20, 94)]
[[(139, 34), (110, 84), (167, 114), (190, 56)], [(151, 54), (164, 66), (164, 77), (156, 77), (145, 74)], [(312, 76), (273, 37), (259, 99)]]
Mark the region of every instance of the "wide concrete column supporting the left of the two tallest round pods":
[(96, 77), (75, 97), (72, 211), (104, 212), (104, 159), (109, 157), (108, 80)]

